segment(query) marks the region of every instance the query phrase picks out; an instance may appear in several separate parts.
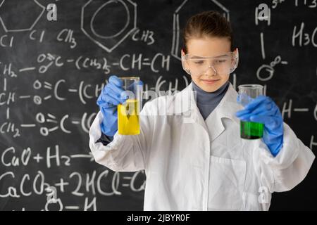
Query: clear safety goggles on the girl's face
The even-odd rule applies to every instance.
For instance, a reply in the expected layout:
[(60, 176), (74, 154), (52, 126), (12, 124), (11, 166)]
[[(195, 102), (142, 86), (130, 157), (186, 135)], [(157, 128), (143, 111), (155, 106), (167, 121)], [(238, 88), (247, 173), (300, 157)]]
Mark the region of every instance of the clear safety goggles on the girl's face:
[(228, 52), (217, 57), (201, 57), (186, 54), (182, 56), (182, 68), (189, 75), (204, 75), (208, 70), (213, 70), (215, 75), (229, 75), (237, 68), (239, 53)]

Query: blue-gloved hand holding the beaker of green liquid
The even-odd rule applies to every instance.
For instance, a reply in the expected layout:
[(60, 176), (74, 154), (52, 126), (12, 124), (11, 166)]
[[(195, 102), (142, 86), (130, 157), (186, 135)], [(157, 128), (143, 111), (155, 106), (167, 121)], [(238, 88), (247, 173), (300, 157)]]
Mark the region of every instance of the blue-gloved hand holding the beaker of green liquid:
[[(240, 96), (237, 98), (240, 103)], [(278, 105), (268, 96), (258, 96), (235, 113), (240, 120), (264, 124), (263, 141), (275, 157), (283, 144), (283, 120)]]

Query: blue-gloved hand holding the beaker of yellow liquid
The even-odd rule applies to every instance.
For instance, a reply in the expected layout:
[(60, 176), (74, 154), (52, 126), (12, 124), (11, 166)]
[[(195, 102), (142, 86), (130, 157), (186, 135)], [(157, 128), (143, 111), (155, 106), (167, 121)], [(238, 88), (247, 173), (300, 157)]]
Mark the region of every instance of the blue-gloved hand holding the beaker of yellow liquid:
[[(137, 85), (142, 84), (141, 81), (137, 83)], [(128, 99), (128, 96), (120, 98), (123, 91), (122, 80), (113, 75), (109, 77), (108, 84), (106, 84), (97, 99), (97, 105), (99, 105), (100, 111), (104, 116), (104, 120), (101, 123), (101, 131), (106, 136), (114, 136), (118, 130), (117, 105), (125, 103)]]

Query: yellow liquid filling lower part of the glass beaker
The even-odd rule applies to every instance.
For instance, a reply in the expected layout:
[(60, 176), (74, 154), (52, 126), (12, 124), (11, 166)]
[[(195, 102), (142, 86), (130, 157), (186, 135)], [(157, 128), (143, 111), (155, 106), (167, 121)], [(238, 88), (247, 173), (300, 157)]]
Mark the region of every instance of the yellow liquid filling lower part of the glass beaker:
[(139, 134), (139, 101), (128, 99), (118, 105), (118, 133), (123, 135)]

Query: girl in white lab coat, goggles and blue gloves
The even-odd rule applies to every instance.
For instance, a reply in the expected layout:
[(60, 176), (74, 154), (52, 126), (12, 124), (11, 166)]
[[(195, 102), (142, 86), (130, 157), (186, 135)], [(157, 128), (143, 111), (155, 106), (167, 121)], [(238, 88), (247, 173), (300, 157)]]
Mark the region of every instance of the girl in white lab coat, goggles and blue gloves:
[[(101, 92), (89, 146), (113, 171), (145, 170), (144, 210), (268, 210), (271, 193), (289, 191), (309, 172), (315, 156), (271, 98), (237, 103), (228, 82), (238, 62), (232, 41), (219, 13), (189, 18), (181, 54), (192, 82), (146, 103), (139, 135), (118, 134), (120, 79), (111, 76)], [(263, 123), (263, 139), (241, 139), (240, 120)]]

